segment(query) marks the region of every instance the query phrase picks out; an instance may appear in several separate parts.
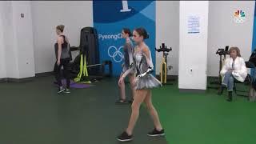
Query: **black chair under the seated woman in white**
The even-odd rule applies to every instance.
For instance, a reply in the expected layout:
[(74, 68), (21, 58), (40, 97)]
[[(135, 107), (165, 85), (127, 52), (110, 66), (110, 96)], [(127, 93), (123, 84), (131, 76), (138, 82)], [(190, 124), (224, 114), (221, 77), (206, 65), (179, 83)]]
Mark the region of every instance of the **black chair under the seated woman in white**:
[[(246, 67), (247, 68), (250, 68), (251, 70), (253, 69), (254, 70), (254, 73), (255, 73), (255, 65), (254, 65), (254, 62), (250, 62), (250, 61), (248, 61), (248, 62), (246, 62)], [(252, 74), (252, 75), (254, 75), (254, 74)], [(248, 91), (244, 91), (244, 90), (237, 90), (237, 86), (236, 86), (236, 84), (237, 83), (244, 83), (246, 86), (248, 86), (249, 88), (248, 88)], [(238, 96), (242, 96), (242, 97), (247, 97), (248, 99), (249, 99), (249, 94), (250, 94), (250, 89), (252, 88), (252, 83), (253, 83), (253, 78), (252, 78), (252, 76), (250, 75), (250, 74), (247, 74), (247, 76), (246, 76), (246, 79), (245, 79), (245, 81), (244, 82), (239, 82), (238, 80), (236, 80), (235, 78), (234, 78), (234, 93), (236, 94), (236, 95), (238, 95)], [(247, 93), (246, 95), (245, 94), (238, 94), (238, 91), (239, 92), (243, 92), (243, 93)]]

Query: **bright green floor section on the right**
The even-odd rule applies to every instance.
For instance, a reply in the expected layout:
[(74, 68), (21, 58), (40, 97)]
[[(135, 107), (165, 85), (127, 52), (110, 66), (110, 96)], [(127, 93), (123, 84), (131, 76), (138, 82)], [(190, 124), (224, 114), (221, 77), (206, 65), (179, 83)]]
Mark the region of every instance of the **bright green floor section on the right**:
[(218, 96), (213, 89), (206, 94), (189, 94), (179, 93), (177, 87), (154, 90), (154, 103), (169, 143), (256, 143), (256, 102), (239, 96), (226, 102), (226, 93)]

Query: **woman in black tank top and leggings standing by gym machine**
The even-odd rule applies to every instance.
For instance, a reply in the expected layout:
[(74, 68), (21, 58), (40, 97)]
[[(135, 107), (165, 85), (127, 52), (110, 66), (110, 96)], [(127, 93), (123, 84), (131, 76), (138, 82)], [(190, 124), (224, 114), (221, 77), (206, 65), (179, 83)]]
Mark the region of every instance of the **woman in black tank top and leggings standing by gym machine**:
[[(70, 71), (68, 70), (68, 64), (70, 62), (70, 58), (67, 57), (69, 55), (68, 45), (69, 43), (66, 41), (66, 36), (63, 34), (64, 30), (63, 25), (59, 25), (56, 27), (56, 33), (58, 34), (57, 42), (54, 45), (56, 62), (54, 65), (54, 74), (55, 78), (58, 82), (58, 93), (70, 93)], [(66, 78), (66, 89), (62, 86), (62, 77), (61, 77), (61, 68), (63, 66), (64, 70), (64, 78)]]

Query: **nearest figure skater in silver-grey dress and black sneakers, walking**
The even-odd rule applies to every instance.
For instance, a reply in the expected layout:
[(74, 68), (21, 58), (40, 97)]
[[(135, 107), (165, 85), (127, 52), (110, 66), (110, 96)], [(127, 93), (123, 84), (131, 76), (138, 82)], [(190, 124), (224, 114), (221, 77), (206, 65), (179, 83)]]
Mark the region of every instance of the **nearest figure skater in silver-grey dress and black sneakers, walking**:
[(142, 102), (146, 103), (146, 108), (150, 113), (154, 122), (154, 130), (150, 131), (147, 135), (151, 137), (164, 135), (161, 122), (158, 118), (158, 112), (155, 110), (151, 101), (151, 89), (162, 86), (161, 82), (151, 74), (154, 70), (153, 62), (151, 59), (150, 49), (146, 46), (144, 39), (149, 38), (144, 28), (137, 28), (133, 31), (134, 42), (138, 46), (134, 48), (134, 63), (126, 70), (122, 77), (119, 79), (123, 81), (131, 70), (135, 70), (136, 78), (134, 80), (134, 102), (131, 105), (130, 122), (126, 130), (118, 136), (118, 141), (127, 142), (133, 139), (133, 130), (139, 115), (139, 108)]

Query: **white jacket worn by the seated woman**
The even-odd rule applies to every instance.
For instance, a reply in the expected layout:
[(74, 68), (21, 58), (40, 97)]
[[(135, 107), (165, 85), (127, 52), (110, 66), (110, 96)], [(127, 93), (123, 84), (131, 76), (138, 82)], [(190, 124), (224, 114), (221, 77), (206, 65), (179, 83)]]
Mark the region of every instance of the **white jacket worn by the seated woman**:
[[(220, 72), (222, 78), (229, 69), (232, 69), (232, 62), (233, 58), (226, 58), (224, 66), (222, 66), (222, 70)], [(246, 62), (243, 58), (237, 57), (234, 60), (234, 71), (232, 75), (236, 78), (239, 82), (244, 82), (247, 76), (247, 68)]]

